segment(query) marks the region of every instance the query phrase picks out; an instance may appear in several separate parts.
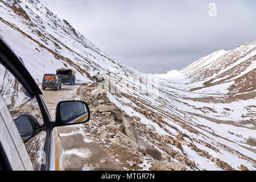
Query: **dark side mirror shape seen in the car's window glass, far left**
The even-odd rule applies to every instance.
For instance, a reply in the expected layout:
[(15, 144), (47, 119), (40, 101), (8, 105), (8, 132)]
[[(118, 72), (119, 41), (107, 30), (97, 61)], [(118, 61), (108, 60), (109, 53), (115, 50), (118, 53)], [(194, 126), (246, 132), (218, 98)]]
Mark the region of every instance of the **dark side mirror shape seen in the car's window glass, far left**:
[(23, 142), (27, 142), (40, 131), (39, 122), (30, 114), (22, 114), (14, 119), (14, 123), (19, 131), (20, 137)]

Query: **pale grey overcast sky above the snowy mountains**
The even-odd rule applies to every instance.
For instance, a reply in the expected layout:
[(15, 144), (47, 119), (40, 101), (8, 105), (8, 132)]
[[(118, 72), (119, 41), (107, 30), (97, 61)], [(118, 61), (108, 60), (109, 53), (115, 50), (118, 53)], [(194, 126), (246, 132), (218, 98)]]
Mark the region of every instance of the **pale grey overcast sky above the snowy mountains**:
[[(256, 39), (256, 1), (39, 0), (114, 59), (143, 73), (181, 69)], [(210, 17), (209, 3), (217, 5)]]

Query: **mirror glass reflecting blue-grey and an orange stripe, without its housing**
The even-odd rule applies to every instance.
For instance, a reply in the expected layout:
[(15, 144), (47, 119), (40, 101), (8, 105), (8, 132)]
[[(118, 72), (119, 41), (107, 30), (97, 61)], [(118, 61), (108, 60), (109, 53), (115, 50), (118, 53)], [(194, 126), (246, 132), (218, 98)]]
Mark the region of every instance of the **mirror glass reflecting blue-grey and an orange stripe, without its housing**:
[(80, 101), (62, 102), (60, 118), (64, 124), (80, 123), (88, 120), (86, 105)]

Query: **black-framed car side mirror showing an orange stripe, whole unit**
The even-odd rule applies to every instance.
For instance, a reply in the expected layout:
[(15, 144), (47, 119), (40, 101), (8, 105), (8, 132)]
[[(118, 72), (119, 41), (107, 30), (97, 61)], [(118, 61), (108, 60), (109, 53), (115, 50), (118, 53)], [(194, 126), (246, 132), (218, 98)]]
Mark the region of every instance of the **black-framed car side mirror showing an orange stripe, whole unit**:
[(61, 101), (56, 106), (56, 122), (59, 126), (88, 122), (89, 106), (84, 101)]

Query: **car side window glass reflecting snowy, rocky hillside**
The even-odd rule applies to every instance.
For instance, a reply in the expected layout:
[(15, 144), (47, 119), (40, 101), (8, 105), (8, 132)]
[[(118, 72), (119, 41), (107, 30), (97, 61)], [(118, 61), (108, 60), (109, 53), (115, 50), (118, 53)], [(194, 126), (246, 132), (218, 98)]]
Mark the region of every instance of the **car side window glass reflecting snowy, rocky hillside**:
[[(0, 64), (0, 93), (13, 119), (22, 114), (30, 114), (43, 125), (42, 114), (36, 98), (32, 98), (19, 81)], [(18, 126), (21, 127), (21, 126)], [(43, 146), (46, 139), (46, 132), (42, 131), (35, 137), (25, 142), (35, 170), (39, 169), (43, 154)]]

